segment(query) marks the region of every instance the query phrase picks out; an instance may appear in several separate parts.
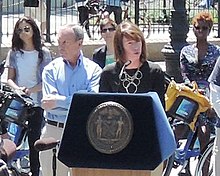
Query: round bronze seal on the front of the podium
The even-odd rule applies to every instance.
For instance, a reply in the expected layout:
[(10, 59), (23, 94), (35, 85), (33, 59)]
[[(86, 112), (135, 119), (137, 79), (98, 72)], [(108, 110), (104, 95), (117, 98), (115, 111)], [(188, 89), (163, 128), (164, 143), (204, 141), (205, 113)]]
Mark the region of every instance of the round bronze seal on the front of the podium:
[(129, 144), (133, 136), (132, 116), (119, 103), (101, 103), (89, 115), (87, 135), (97, 151), (104, 154), (118, 153)]

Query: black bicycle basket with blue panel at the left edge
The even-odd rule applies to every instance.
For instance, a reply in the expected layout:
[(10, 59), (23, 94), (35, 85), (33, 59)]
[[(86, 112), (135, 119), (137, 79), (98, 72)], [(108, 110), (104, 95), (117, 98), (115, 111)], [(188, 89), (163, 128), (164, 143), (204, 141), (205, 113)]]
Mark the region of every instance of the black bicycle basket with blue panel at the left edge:
[(19, 96), (7, 96), (0, 108), (1, 120), (24, 125), (28, 118), (28, 107)]

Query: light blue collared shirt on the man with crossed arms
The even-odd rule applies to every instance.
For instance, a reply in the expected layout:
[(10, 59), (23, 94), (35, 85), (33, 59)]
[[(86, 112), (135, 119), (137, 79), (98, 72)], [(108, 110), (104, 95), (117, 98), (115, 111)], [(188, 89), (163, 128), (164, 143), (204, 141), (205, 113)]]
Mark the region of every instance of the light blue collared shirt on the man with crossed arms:
[(98, 92), (102, 69), (98, 64), (83, 57), (81, 52), (76, 66), (59, 57), (47, 65), (42, 74), (43, 98), (53, 94), (57, 107), (45, 111), (47, 119), (65, 123), (72, 96), (75, 92)]

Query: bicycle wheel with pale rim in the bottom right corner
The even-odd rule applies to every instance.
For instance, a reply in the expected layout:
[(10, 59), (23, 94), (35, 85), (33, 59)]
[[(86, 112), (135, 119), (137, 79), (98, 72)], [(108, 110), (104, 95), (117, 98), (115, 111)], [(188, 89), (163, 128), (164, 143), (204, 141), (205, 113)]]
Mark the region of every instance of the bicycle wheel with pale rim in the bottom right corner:
[(195, 170), (195, 176), (203, 176), (204, 167), (208, 167), (207, 176), (213, 176), (213, 164), (214, 164), (213, 163), (214, 157), (212, 155), (213, 146), (214, 146), (214, 140), (210, 141), (206, 150), (203, 152), (201, 158), (199, 159)]

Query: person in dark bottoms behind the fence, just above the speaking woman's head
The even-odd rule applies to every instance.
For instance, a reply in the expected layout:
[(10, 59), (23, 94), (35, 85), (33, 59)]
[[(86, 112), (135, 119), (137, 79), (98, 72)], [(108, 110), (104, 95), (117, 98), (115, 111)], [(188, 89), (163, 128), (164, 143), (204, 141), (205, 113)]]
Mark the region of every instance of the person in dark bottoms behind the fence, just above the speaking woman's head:
[(111, 13), (114, 13), (115, 16), (115, 22), (117, 24), (120, 24), (122, 22), (122, 8), (121, 8), (121, 0), (106, 0), (106, 11)]

